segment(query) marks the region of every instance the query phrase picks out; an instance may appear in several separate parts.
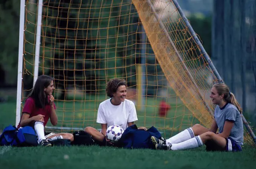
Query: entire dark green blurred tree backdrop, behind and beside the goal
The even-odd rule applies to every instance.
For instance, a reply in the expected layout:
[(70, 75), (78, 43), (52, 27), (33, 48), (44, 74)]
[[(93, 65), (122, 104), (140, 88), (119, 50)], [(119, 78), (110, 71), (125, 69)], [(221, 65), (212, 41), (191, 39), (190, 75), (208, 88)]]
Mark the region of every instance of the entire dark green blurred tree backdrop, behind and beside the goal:
[[(69, 0), (55, 0), (45, 4), (53, 7), (43, 8), (41, 46), (45, 47), (40, 49), (40, 56), (43, 56), (44, 60), (40, 62), (42, 67), (39, 74), (54, 74), (59, 82), (62, 81), (62, 84), (59, 84), (60, 88), (70, 85), (63, 84), (65, 75), (71, 80), (66, 82), (70, 83), (72, 78), (76, 78), (76, 85), (80, 86), (85, 84), (79, 80), (86, 77), (88, 91), (94, 91), (96, 87), (97, 90), (104, 89), (106, 78), (113, 77), (126, 76), (129, 86), (136, 85), (134, 73), (136, 63), (140, 63), (141, 59), (140, 24), (131, 1), (115, 2), (114, 5), (112, 4), (113, 7), (110, 7), (111, 0), (104, 3), (102, 0), (94, 0), (92, 3), (82, 1), (82, 4), (80, 2), (80, 0), (73, 0), (72, 3)], [(90, 9), (90, 6), (93, 8)], [(81, 10), (78, 10), (79, 8)], [(28, 89), (32, 87), (33, 81), (30, 74), (33, 74), (35, 55), (36, 15), (32, 13), (36, 13), (36, 9), (37, 4), (26, 4), (26, 10), (31, 15), (26, 16), (25, 73), (28, 75), (24, 75), (26, 80), (23, 82), (25, 88), (28, 85)], [(0, 62), (4, 63), (3, 69), (7, 72), (6, 77), (10, 84), (16, 84), (17, 78), (19, 12), (19, 3), (15, 3), (14, 0), (0, 2), (0, 14), (2, 14), (0, 16)], [(211, 17), (200, 18), (192, 15), (189, 20), (203, 41), (207, 53), (211, 53)], [(149, 42), (147, 43), (146, 63), (149, 71), (147, 78), (149, 84), (154, 84), (157, 81), (155, 74), (162, 77), (162, 70), (160, 66), (151, 65), (157, 64), (157, 61)], [(71, 61), (74, 59), (76, 59), (75, 62)], [(55, 72), (51, 69), (53, 67)]]

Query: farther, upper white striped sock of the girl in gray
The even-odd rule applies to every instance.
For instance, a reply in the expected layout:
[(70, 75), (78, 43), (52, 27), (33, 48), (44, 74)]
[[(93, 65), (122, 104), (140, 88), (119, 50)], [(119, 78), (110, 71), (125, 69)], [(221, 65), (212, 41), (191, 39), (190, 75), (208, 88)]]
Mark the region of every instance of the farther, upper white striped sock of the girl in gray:
[(192, 128), (190, 127), (188, 129), (183, 130), (182, 132), (178, 133), (177, 135), (172, 136), (171, 138), (167, 139), (166, 145), (168, 145), (168, 143), (171, 143), (171, 144), (180, 143), (180, 142), (186, 141), (186, 140), (194, 138), (194, 137), (195, 137), (194, 132), (193, 132)]

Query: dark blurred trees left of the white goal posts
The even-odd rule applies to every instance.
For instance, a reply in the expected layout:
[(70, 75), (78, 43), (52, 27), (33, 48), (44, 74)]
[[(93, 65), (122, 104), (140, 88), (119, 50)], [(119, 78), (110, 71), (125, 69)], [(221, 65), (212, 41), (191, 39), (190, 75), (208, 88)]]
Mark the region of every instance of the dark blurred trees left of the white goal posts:
[(19, 16), (17, 1), (0, 1), (0, 63), (8, 77), (6, 84), (16, 84), (17, 81)]

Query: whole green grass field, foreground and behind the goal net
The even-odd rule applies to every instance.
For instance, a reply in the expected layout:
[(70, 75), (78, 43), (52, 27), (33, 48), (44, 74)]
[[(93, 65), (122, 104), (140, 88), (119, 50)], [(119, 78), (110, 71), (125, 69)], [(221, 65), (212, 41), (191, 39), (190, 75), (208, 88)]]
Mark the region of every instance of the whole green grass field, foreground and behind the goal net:
[[(95, 123), (97, 102), (56, 102), (58, 126), (99, 127)], [(167, 119), (157, 115), (159, 100), (149, 98), (146, 108), (137, 110), (138, 126), (155, 126), (168, 137), (190, 124), (198, 123), (181, 103), (175, 103)], [(15, 124), (15, 102), (0, 103), (0, 129)], [(79, 115), (81, 114), (81, 115)], [(87, 121), (86, 121), (87, 120)], [(48, 123), (47, 125), (50, 126)], [(161, 128), (166, 127), (167, 130)], [(256, 148), (245, 146), (242, 152), (206, 152), (205, 147), (186, 151), (126, 150), (110, 147), (0, 147), (0, 168), (182, 168), (253, 169), (256, 166)]]

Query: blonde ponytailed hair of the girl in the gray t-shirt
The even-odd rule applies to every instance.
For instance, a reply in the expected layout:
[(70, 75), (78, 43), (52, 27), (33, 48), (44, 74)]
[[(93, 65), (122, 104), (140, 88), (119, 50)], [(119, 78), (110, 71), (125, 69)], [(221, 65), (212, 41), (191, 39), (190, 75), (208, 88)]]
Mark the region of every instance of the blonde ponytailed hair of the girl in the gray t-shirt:
[(238, 111), (242, 114), (243, 110), (236, 100), (233, 93), (229, 91), (229, 87), (224, 83), (214, 84), (213, 87), (216, 88), (219, 95), (224, 94), (224, 100), (232, 105), (235, 105)]

